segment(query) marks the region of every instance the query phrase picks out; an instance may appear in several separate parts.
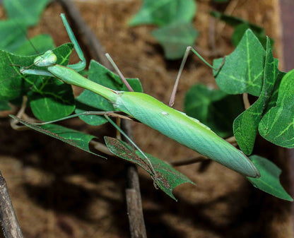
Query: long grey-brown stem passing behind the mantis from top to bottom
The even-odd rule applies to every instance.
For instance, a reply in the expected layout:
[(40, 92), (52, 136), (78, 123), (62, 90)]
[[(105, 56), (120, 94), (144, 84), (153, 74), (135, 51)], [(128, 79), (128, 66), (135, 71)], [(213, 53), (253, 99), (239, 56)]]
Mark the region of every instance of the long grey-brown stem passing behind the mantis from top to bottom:
[[(94, 59), (100, 60), (108, 69), (113, 71), (112, 65), (106, 60), (105, 50), (98, 41), (95, 34), (88, 28), (88, 25), (81, 18), (81, 14), (73, 6), (70, 0), (59, 0), (66, 10), (71, 22), (78, 28), (83, 37), (86, 39), (88, 49), (93, 52)], [(122, 120), (122, 129), (131, 138), (131, 126), (129, 121)], [(139, 176), (135, 165), (127, 165), (127, 212), (129, 217), (129, 226), (131, 238), (146, 238), (146, 228), (143, 218), (143, 208), (141, 203), (141, 193), (139, 186)]]

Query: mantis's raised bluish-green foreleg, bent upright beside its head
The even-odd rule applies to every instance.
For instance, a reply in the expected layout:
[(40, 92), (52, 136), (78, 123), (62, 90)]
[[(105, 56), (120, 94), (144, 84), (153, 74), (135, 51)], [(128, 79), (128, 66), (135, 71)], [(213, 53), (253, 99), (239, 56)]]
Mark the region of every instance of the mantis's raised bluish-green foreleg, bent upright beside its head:
[(69, 64), (67, 67), (79, 72), (85, 69), (86, 67), (86, 59), (83, 55), (83, 52), (81, 50), (80, 45), (78, 44), (78, 41), (76, 40), (76, 37), (73, 35), (73, 31), (71, 30), (71, 27), (69, 26), (68, 21), (66, 20), (66, 17), (64, 13), (60, 14), (62, 22), (64, 23), (64, 27), (66, 28), (66, 32), (69, 35), (69, 39), (71, 39), (71, 42), (73, 43), (74, 49), (76, 49), (76, 53), (78, 54), (78, 57), (81, 59), (77, 64)]

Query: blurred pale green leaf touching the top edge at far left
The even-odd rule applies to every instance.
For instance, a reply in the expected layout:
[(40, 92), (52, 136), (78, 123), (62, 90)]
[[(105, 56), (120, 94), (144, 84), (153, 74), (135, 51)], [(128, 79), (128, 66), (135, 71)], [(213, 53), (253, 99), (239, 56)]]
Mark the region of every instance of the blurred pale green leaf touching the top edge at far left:
[(16, 23), (32, 26), (39, 21), (40, 14), (51, 0), (4, 0), (8, 18)]

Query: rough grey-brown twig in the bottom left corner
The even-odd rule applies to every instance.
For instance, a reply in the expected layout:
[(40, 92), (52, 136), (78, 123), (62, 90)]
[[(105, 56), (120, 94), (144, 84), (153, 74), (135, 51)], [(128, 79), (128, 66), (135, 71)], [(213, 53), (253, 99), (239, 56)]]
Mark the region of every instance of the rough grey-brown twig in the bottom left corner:
[(8, 194), (6, 181), (0, 172), (0, 220), (4, 237), (23, 238), (16, 213), (14, 213), (11, 199)]

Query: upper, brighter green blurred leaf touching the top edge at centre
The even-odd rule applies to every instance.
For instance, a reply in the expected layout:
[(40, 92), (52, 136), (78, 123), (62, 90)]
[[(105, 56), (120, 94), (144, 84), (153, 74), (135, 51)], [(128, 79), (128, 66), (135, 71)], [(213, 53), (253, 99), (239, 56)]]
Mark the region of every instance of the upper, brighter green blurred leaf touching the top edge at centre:
[(195, 12), (194, 0), (144, 0), (141, 10), (131, 19), (129, 25), (189, 23)]

